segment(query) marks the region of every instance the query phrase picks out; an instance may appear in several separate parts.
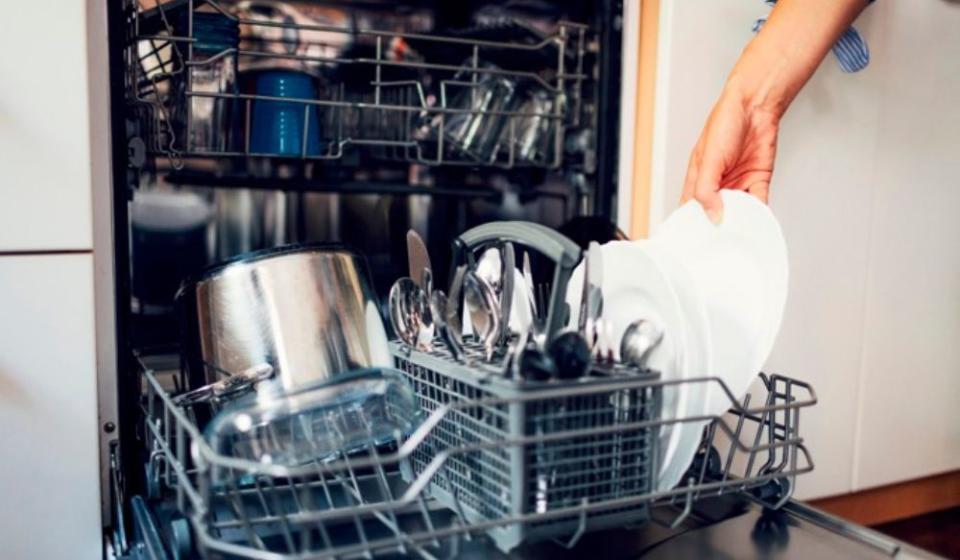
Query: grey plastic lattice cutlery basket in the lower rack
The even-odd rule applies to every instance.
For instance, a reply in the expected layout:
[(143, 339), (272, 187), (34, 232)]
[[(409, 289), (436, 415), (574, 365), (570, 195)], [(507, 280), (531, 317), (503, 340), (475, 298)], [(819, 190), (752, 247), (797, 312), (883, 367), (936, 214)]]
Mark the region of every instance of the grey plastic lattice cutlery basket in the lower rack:
[[(658, 374), (596, 370), (569, 382), (517, 383), (496, 364), (466, 365), (445, 349), (394, 343), (392, 351), (425, 412), (455, 407), (411, 455), (414, 476), (444, 455), (430, 496), (471, 525), (490, 522), (501, 550), (649, 518), (648, 502), (589, 517), (582, 506), (653, 490), (659, 427), (642, 424), (659, 417), (661, 387), (636, 382)], [(625, 379), (633, 385), (624, 388)], [(496, 525), (518, 518), (529, 521)]]

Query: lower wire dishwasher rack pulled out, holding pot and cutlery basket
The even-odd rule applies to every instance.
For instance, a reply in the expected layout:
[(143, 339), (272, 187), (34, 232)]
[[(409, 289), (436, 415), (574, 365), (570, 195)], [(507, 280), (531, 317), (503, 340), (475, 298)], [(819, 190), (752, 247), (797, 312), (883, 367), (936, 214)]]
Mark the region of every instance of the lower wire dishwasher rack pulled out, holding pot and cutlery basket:
[[(755, 389), (742, 401), (734, 399), (715, 377), (664, 381), (656, 375), (618, 376), (601, 383), (545, 386), (513, 395), (461, 389), (457, 391), (460, 398), (424, 406), (428, 417), (394, 448), (371, 446), (360, 457), (289, 468), (218, 455), (207, 445), (192, 415), (171, 399), (170, 387), (175, 383), (171, 380), (179, 372), (165, 371), (156, 365), (164, 360), (150, 355), (139, 356), (139, 362), (149, 451), (148, 502), (152, 510), (164, 512), (159, 525), (175, 558), (195, 554), (262, 560), (448, 558), (465, 551), (488, 557), (526, 545), (531, 538), (551, 538), (571, 547), (588, 531), (650, 521), (652, 506), (672, 506), (671, 519), (657, 520), (672, 525), (683, 521), (697, 501), (727, 494), (776, 509), (789, 500), (795, 477), (813, 470), (799, 435), (799, 420), (801, 409), (816, 403), (816, 394), (808, 384), (780, 375), (760, 374)], [(416, 369), (411, 363), (419, 364), (422, 376), (422, 360), (411, 358), (404, 364), (398, 358), (408, 376)], [(429, 394), (415, 377), (411, 382), (418, 393)], [(434, 383), (434, 390), (449, 388), (449, 383)], [(669, 420), (661, 418), (658, 405), (643, 408), (652, 413), (623, 412), (629, 410), (622, 406), (624, 398), (637, 402), (640, 396), (657, 404), (664, 388), (679, 383), (712, 384), (729, 396), (730, 411), (724, 416)], [(466, 418), (485, 418), (489, 412), (484, 411), (491, 407), (522, 406), (529, 411), (549, 408), (557, 399), (599, 402), (598, 395), (614, 411), (606, 425), (555, 422), (555, 429), (544, 430), (536, 422), (526, 422), (528, 428), (519, 431), (450, 430)], [(762, 404), (753, 404), (757, 402)], [(427, 404), (423, 398), (421, 404)], [(672, 489), (657, 489), (649, 474), (658, 472), (657, 438), (638, 446), (643, 452), (634, 459), (624, 454), (630, 449), (625, 442), (635, 440), (637, 433), (655, 433), (661, 426), (682, 422), (704, 425), (700, 450), (684, 482)], [(469, 437), (463, 436), (467, 433)], [(574, 450), (569, 456), (554, 455), (554, 464), (563, 464), (565, 457), (590, 454), (600, 455), (598, 460), (603, 461), (604, 452), (612, 451), (611, 460), (620, 461), (617, 468), (604, 463), (607, 468), (600, 469), (612, 479), (598, 484), (594, 476), (579, 485), (570, 484), (560, 498), (539, 495), (542, 488), (536, 469), (547, 464), (545, 452), (563, 443), (593, 447)], [(440, 445), (442, 449), (437, 448)], [(484, 476), (490, 473), (477, 460), (491, 450), (527, 457), (520, 464), (534, 474), (525, 481), (506, 480), (504, 487), (498, 487)], [(577, 465), (580, 459), (571, 460), (567, 464)], [(477, 471), (464, 470), (469, 467)], [(213, 469), (237, 476), (231, 483), (214, 484)], [(646, 479), (641, 476), (643, 469)], [(478, 502), (470, 496), (477, 490), (463, 483), (464, 475), (486, 481), (484, 491), (502, 496), (504, 507), (478, 508), (478, 503), (489, 505), (492, 500), (487, 496), (485, 502)], [(458, 476), (461, 483), (455, 482)], [(576, 488), (588, 491), (577, 493)]]

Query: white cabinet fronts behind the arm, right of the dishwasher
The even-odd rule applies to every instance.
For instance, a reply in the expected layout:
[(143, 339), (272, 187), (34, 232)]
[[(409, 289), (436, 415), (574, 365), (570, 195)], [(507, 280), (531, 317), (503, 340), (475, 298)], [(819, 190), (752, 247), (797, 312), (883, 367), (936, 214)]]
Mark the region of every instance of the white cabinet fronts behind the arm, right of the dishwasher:
[[(661, 2), (654, 231), (767, 11)], [(960, 468), (960, 3), (877, 2), (855, 25), (870, 66), (844, 74), (829, 55), (782, 123), (772, 184), (791, 285), (767, 368), (820, 396), (802, 497)]]

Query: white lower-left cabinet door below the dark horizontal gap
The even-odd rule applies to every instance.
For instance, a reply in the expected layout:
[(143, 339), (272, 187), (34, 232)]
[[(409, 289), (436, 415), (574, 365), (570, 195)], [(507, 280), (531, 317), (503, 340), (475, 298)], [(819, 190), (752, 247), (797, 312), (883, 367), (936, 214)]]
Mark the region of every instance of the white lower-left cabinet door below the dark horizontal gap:
[(92, 255), (0, 257), (4, 558), (98, 559)]

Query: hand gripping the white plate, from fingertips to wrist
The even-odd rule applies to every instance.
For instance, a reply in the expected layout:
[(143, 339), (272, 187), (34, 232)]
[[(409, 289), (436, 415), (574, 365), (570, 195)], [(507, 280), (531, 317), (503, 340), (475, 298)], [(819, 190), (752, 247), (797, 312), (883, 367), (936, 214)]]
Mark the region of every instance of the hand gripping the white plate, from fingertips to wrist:
[(780, 115), (727, 87), (690, 154), (681, 202), (695, 198), (713, 222), (723, 206), (720, 189), (747, 191), (767, 202), (777, 152)]

